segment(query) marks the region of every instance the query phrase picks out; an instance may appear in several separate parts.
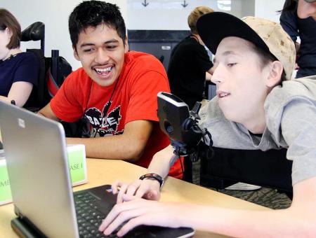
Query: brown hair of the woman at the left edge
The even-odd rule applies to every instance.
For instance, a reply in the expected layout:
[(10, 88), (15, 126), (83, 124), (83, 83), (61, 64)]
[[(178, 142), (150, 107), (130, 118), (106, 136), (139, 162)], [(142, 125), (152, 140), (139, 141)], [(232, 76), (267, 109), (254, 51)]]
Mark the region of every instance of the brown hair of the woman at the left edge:
[(21, 41), (21, 26), (16, 18), (6, 9), (0, 8), (0, 30), (4, 31), (8, 28), (11, 31), (11, 39), (6, 47), (15, 49), (20, 47)]

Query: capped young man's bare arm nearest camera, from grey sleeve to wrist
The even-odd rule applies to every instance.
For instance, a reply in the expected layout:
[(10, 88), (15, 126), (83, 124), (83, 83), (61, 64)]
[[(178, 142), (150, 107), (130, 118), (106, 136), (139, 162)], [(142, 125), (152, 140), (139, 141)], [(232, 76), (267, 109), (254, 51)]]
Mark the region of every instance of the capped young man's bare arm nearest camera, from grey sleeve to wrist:
[[(289, 209), (250, 211), (187, 206), (186, 224), (232, 237), (316, 237), (316, 177), (293, 186)], [(190, 220), (190, 221), (188, 221)]]

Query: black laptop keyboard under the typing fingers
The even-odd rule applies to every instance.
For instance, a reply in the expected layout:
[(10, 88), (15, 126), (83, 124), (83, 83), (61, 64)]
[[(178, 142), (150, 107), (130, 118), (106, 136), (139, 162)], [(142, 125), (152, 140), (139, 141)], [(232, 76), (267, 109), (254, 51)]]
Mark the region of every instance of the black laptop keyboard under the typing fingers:
[[(93, 197), (90, 193), (79, 193), (74, 194), (74, 204), (77, 214), (77, 223), (79, 229), (79, 237), (89, 238), (89, 237), (117, 237), (117, 232), (121, 229), (121, 226), (114, 230), (110, 236), (105, 236), (103, 233), (98, 231), (103, 219), (110, 212), (112, 207), (109, 207), (107, 214), (103, 214), (98, 210), (96, 206), (96, 197)], [(124, 237), (143, 237), (147, 233), (141, 226), (135, 230), (129, 232)]]

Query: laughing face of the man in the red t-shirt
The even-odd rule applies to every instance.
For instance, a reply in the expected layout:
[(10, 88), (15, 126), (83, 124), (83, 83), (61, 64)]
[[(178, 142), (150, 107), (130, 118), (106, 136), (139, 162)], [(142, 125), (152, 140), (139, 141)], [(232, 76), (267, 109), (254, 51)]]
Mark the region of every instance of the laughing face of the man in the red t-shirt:
[(88, 27), (79, 34), (74, 57), (100, 86), (112, 85), (121, 73), (128, 48), (115, 29), (105, 24)]

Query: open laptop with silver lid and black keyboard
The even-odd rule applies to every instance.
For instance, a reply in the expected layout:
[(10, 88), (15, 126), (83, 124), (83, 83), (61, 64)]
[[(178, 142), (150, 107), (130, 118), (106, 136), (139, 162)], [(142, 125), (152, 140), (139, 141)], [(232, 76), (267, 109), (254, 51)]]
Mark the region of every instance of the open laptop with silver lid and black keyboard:
[[(72, 193), (62, 125), (0, 102), (0, 127), (17, 215), (13, 230), (20, 237), (105, 237), (98, 227), (116, 196), (110, 185)], [(193, 234), (191, 228), (139, 226), (125, 237)]]

